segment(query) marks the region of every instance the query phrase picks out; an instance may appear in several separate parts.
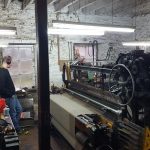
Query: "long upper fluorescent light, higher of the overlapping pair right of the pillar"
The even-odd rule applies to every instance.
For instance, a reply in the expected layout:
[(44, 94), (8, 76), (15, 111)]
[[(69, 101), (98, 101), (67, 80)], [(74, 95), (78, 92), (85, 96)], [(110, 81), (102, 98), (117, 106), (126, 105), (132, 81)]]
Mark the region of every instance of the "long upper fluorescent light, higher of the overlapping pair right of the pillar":
[(80, 23), (80, 22), (66, 22), (53, 20), (53, 27), (55, 28), (66, 28), (66, 29), (82, 29), (82, 30), (101, 30), (101, 31), (111, 31), (111, 32), (134, 32), (135, 29), (131, 27), (121, 27), (121, 26), (108, 26), (92, 23)]

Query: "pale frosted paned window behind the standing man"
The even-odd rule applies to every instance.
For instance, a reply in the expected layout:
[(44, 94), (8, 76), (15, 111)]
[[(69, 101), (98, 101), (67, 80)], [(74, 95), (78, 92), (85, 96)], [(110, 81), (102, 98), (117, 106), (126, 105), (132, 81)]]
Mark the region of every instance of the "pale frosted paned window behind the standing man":
[(35, 67), (33, 47), (7, 47), (3, 56), (12, 57), (9, 69), (16, 88), (32, 87), (35, 85)]

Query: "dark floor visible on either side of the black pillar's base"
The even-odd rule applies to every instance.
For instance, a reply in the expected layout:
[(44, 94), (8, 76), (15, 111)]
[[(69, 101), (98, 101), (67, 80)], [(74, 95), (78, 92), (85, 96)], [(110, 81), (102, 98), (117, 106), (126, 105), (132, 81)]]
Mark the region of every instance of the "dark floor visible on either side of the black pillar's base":
[[(20, 150), (38, 150), (38, 128), (35, 126), (30, 129), (25, 129), (19, 135), (19, 140)], [(53, 150), (73, 150), (56, 130), (53, 130), (51, 135), (51, 147)]]

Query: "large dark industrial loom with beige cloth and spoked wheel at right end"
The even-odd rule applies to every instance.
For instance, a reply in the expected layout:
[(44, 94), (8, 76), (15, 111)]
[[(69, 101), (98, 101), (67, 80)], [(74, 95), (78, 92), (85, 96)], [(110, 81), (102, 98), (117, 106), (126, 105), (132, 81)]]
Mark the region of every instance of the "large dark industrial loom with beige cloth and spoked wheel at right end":
[[(102, 66), (96, 62), (68, 62), (62, 77), (64, 90), (71, 97), (60, 107), (74, 100), (70, 106), (74, 112), (69, 106), (62, 108), (69, 114), (70, 127), (61, 123), (54, 109), (52, 122), (67, 140), (71, 135), (82, 145), (79, 148), (69, 142), (74, 149), (150, 150), (150, 54), (143, 50), (121, 53), (114, 64)], [(52, 105), (56, 106), (57, 97), (51, 99), (55, 99)], [(63, 97), (57, 105), (60, 99)], [(77, 106), (75, 101), (82, 104)], [(75, 112), (75, 107), (82, 105), (86, 110)]]

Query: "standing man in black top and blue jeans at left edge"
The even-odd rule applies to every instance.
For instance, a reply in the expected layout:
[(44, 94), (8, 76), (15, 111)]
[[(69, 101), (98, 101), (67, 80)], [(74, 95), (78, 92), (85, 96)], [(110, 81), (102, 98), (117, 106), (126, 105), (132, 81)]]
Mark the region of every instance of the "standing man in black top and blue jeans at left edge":
[(15, 95), (15, 86), (9, 74), (8, 68), (11, 66), (11, 56), (5, 56), (0, 68), (0, 97), (6, 99), (6, 104), (10, 108), (10, 116), (17, 132), (20, 131), (19, 119), (22, 112), (20, 102)]

